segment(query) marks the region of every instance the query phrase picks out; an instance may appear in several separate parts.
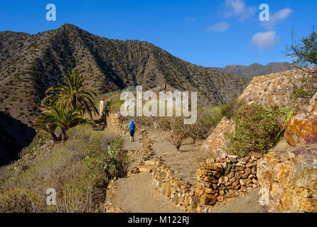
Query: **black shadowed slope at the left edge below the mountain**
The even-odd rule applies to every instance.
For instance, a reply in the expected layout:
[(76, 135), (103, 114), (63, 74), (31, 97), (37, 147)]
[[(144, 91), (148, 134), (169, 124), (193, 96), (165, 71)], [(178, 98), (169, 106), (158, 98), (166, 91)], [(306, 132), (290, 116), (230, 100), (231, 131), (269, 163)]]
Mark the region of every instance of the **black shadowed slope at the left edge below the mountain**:
[(36, 135), (34, 128), (1, 111), (0, 132), (0, 167), (17, 160), (21, 150), (27, 147)]

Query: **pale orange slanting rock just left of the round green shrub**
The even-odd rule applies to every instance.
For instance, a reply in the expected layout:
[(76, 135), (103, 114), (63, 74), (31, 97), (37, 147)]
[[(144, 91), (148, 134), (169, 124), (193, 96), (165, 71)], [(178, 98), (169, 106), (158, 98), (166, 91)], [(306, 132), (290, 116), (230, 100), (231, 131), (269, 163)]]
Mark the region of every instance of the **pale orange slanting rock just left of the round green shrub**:
[(203, 143), (200, 149), (210, 153), (213, 158), (225, 155), (223, 151), (223, 148), (227, 145), (225, 135), (227, 133), (232, 133), (233, 131), (235, 131), (234, 122), (226, 117), (222, 118), (213, 133), (208, 136), (207, 140)]

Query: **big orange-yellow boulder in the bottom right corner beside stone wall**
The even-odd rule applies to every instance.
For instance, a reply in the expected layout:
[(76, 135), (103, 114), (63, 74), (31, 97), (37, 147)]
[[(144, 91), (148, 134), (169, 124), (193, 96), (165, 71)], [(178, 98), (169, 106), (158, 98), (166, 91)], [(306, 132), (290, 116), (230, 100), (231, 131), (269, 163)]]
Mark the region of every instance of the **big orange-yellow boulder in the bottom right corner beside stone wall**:
[(317, 150), (289, 148), (257, 162), (262, 204), (272, 212), (317, 212)]

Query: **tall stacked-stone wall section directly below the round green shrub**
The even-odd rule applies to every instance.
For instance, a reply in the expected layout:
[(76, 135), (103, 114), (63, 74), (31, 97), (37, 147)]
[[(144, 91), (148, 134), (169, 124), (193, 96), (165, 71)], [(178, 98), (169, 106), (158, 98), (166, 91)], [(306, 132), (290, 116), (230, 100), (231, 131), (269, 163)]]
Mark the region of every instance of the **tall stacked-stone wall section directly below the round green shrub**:
[(215, 205), (226, 197), (240, 196), (257, 188), (257, 160), (260, 157), (252, 153), (240, 160), (237, 156), (227, 156), (200, 163), (194, 200), (200, 204)]

